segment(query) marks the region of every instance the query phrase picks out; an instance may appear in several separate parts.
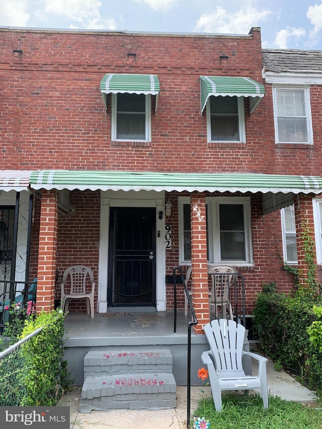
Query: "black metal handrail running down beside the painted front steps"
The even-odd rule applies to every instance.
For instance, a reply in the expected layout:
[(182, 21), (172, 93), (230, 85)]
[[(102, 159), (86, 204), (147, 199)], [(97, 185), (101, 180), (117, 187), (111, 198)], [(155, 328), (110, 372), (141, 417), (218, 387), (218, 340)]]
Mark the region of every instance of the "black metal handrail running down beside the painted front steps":
[(186, 281), (182, 274), (181, 267), (175, 267), (173, 269), (173, 287), (174, 287), (174, 296), (175, 296), (175, 311), (174, 311), (174, 333), (177, 332), (177, 278), (176, 272), (179, 272), (181, 277), (181, 282), (185, 289), (185, 294), (188, 298), (188, 303), (191, 310), (192, 320), (188, 322), (188, 350), (187, 350), (187, 429), (190, 427), (190, 398), (191, 398), (191, 326), (196, 325), (198, 320), (196, 318), (195, 310), (192, 305), (192, 301), (188, 292)]

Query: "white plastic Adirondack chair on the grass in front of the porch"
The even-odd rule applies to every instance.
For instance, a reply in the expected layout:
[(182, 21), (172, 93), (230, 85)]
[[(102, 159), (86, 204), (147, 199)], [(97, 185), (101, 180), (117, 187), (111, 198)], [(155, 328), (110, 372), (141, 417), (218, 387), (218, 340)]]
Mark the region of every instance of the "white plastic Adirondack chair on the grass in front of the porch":
[[(245, 327), (234, 320), (219, 319), (207, 323), (204, 331), (210, 350), (203, 352), (201, 359), (208, 367), (216, 411), (221, 411), (221, 392), (224, 390), (261, 389), (264, 407), (268, 408), (267, 359), (243, 350)], [(257, 376), (245, 375), (241, 364), (243, 355), (259, 362)]]

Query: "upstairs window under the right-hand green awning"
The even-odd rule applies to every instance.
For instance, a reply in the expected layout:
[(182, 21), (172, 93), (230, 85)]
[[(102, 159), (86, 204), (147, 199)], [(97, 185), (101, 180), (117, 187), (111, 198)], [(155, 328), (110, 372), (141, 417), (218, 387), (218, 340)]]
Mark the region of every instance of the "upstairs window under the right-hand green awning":
[(244, 97), (214, 97), (207, 102), (208, 141), (245, 141)]

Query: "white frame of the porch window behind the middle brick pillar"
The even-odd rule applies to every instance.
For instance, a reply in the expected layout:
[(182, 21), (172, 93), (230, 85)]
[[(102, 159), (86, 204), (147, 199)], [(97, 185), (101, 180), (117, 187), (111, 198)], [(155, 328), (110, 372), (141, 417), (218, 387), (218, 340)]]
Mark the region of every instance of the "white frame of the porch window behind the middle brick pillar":
[[(191, 264), (190, 260), (184, 259), (184, 234), (183, 234), (183, 206), (190, 204), (189, 197), (179, 197), (179, 261), (181, 265)], [(206, 198), (208, 213), (208, 263), (209, 264), (233, 264), (234, 266), (247, 267), (254, 265), (253, 240), (251, 224), (251, 202), (248, 197), (209, 197)], [(220, 204), (242, 204), (244, 207), (245, 227), (245, 261), (221, 261), (220, 260), (220, 228), (219, 228), (219, 205)]]

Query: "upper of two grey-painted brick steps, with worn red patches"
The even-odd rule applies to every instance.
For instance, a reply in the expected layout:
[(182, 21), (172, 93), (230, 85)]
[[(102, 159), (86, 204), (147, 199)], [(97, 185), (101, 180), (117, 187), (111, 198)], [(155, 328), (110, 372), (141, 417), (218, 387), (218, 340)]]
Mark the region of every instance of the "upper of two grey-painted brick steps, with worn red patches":
[(90, 351), (84, 358), (84, 377), (140, 373), (172, 373), (170, 350)]

